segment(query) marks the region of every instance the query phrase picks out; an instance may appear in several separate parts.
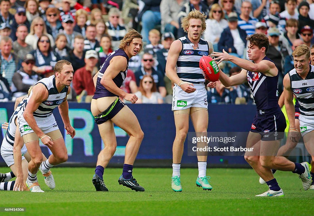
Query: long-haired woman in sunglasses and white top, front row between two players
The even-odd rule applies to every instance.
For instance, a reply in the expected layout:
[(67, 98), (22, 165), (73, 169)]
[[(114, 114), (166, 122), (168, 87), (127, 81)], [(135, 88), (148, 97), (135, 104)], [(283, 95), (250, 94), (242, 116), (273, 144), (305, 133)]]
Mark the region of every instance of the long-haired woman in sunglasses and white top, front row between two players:
[(143, 75), (139, 83), (139, 91), (135, 93), (138, 96), (137, 104), (162, 104), (163, 99), (156, 90), (156, 83), (151, 75)]

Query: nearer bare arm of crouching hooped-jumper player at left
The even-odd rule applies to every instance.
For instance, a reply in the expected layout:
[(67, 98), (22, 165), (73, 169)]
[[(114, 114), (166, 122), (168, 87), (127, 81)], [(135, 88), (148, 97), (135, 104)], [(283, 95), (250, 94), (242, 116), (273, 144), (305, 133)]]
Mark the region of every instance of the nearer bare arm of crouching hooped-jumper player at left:
[(51, 141), (51, 138), (49, 136), (43, 136), (45, 135), (41, 129), (37, 126), (37, 123), (35, 121), (35, 118), (33, 116), (33, 112), (37, 110), (39, 105), (47, 100), (48, 98), (48, 90), (44, 86), (44, 84), (38, 83), (33, 87), (33, 95), (31, 96), (30, 100), (28, 101), (23, 117), (25, 121), (28, 123), (28, 125), (33, 129), (33, 131), (36, 133), (36, 135), (41, 138), (41, 142), (44, 143), (44, 145), (47, 145), (48, 147), (51, 147), (53, 145), (53, 142)]

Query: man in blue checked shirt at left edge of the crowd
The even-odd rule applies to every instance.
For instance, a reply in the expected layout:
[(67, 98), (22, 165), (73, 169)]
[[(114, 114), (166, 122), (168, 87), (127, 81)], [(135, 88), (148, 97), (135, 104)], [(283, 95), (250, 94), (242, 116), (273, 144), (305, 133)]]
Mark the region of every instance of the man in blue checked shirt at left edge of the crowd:
[(12, 39), (4, 36), (0, 40), (0, 73), (11, 86), (13, 74), (17, 71), (18, 58), (12, 52)]

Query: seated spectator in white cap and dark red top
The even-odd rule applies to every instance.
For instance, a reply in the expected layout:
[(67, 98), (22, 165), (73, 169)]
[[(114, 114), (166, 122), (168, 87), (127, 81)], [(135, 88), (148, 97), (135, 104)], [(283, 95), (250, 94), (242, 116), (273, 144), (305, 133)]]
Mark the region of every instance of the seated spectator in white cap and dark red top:
[[(73, 88), (78, 102), (90, 102), (95, 93), (93, 76), (97, 73), (95, 67), (98, 63), (98, 54), (95, 50), (88, 50), (85, 54), (85, 66), (79, 68), (73, 76)], [(84, 100), (84, 96), (86, 99)]]

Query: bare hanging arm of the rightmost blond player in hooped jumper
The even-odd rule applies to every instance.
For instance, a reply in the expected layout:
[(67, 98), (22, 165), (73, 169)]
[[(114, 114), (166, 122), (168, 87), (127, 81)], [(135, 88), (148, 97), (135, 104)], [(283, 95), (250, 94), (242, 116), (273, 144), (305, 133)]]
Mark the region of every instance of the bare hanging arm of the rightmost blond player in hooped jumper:
[(295, 127), (295, 107), (293, 105), (293, 93), (290, 86), (289, 74), (284, 76), (284, 105), (290, 124), (290, 139), (296, 143), (300, 139), (300, 132)]

